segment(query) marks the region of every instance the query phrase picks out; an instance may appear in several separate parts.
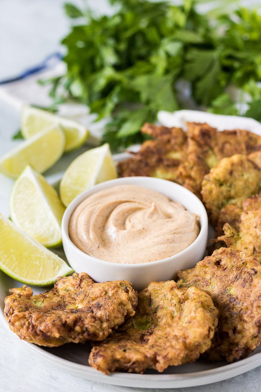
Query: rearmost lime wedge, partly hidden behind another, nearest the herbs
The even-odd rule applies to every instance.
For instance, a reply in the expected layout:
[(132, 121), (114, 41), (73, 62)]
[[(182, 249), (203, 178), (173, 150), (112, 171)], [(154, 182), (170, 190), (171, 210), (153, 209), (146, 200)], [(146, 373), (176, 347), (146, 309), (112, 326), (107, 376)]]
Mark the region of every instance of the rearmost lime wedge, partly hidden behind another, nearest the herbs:
[(36, 133), (43, 131), (43, 129), (58, 124), (65, 133), (65, 151), (80, 147), (89, 134), (88, 130), (76, 121), (31, 106), (23, 108), (21, 131), (25, 139), (29, 139)]

